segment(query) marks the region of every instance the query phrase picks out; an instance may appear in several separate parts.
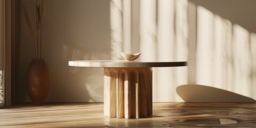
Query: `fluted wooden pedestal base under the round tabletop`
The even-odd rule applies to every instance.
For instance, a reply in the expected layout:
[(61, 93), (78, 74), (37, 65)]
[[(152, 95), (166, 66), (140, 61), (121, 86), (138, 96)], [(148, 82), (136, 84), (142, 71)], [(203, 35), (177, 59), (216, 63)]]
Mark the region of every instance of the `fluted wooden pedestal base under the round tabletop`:
[(104, 115), (152, 115), (152, 68), (104, 68)]

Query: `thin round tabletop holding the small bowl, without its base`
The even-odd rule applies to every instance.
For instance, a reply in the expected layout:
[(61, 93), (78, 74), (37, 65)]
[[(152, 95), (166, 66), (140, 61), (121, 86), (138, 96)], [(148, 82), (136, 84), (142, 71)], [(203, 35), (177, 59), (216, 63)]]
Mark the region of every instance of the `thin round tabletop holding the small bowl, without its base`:
[(128, 60), (74, 60), (68, 61), (69, 66), (76, 67), (119, 67), (119, 68), (149, 68), (149, 67), (180, 67), (187, 66), (187, 61), (128, 61)]

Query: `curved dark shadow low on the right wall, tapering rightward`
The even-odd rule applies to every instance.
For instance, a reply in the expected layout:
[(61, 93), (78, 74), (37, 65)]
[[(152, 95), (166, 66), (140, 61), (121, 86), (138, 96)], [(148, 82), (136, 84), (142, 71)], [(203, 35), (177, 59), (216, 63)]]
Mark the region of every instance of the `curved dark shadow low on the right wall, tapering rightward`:
[(256, 102), (252, 98), (205, 85), (181, 85), (176, 91), (186, 102)]

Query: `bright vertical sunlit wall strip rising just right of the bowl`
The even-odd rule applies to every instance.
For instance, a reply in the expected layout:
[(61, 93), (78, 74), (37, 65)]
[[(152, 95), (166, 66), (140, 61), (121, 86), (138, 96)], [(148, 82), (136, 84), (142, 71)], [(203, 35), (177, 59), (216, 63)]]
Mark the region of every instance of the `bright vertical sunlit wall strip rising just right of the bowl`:
[[(141, 60), (156, 60), (156, 2), (140, 1), (140, 55)], [(154, 77), (154, 76), (153, 76)]]

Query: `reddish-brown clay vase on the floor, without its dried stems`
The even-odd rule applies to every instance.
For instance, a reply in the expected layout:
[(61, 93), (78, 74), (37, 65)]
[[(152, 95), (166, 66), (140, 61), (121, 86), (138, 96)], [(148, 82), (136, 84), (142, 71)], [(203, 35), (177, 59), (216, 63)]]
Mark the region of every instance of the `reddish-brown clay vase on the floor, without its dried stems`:
[(43, 105), (49, 93), (50, 71), (44, 59), (32, 59), (27, 69), (27, 91), (33, 105)]

